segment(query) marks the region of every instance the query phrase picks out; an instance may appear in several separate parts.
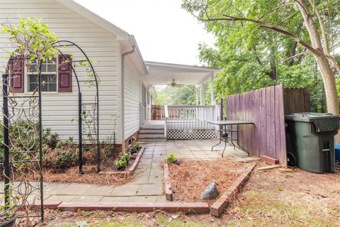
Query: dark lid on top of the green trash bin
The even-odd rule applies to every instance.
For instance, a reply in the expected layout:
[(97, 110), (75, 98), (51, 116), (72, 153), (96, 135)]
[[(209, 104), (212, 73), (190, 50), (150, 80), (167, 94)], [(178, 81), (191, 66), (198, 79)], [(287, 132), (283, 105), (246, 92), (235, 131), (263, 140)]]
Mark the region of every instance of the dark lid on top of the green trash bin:
[(314, 123), (317, 132), (338, 131), (340, 116), (320, 113), (299, 113), (285, 116), (287, 121), (302, 121)]

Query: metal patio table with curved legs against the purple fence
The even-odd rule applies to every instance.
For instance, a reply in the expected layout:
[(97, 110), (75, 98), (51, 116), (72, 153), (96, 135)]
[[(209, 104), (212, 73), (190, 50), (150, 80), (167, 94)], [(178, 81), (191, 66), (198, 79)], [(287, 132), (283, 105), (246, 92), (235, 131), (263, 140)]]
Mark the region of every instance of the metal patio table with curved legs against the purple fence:
[[(227, 121), (208, 121), (208, 123), (211, 123), (216, 126), (220, 126), (220, 143), (217, 143), (216, 145), (212, 146), (211, 150), (213, 150), (215, 146), (220, 145), (222, 141), (225, 142), (225, 148), (227, 147), (227, 142), (230, 141), (235, 149), (234, 141), (236, 141), (237, 146), (240, 148), (240, 150), (243, 150), (249, 156), (249, 151), (246, 150), (245, 148), (242, 148), (242, 146), (239, 145), (239, 139), (238, 139), (239, 138), (239, 125), (254, 125), (253, 122), (242, 121), (242, 120), (227, 120)], [(227, 128), (227, 126), (230, 126), (230, 128)], [(234, 129), (233, 126), (236, 126), (236, 129)], [(229, 136), (229, 133), (230, 133), (230, 136)], [(236, 133), (237, 137), (234, 137), (234, 133)], [(223, 149), (222, 157), (224, 153), (225, 153), (225, 149)]]

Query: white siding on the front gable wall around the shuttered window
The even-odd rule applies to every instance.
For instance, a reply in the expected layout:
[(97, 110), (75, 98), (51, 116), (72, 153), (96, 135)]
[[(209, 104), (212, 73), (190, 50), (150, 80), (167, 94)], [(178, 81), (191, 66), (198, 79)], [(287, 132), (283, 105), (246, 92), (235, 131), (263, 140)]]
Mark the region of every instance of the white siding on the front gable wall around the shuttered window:
[[(0, 0), (1, 23), (7, 20), (16, 23), (20, 16), (42, 18), (42, 22), (47, 23), (59, 40), (71, 40), (77, 43), (89, 58), (94, 60), (94, 69), (101, 80), (99, 84), (100, 139), (105, 140), (113, 133), (113, 128), (117, 129), (113, 123), (113, 116), (117, 114), (118, 109), (118, 42), (115, 35), (53, 0)], [(11, 50), (9, 48), (11, 45), (4, 34), (1, 34), (0, 41), (0, 72), (4, 72), (7, 61), (5, 58), (7, 53), (4, 50)], [(63, 52), (72, 54), (75, 60), (80, 60), (79, 57), (82, 56), (76, 49), (68, 48)], [(80, 80), (86, 79), (84, 68), (78, 68), (77, 74)], [(73, 92), (42, 94), (42, 123), (44, 127), (50, 127), (52, 131), (58, 133), (62, 139), (73, 136), (77, 140), (78, 89), (74, 74), (72, 80)], [(89, 88), (83, 83), (81, 90), (83, 103), (94, 101), (96, 94), (94, 87)]]

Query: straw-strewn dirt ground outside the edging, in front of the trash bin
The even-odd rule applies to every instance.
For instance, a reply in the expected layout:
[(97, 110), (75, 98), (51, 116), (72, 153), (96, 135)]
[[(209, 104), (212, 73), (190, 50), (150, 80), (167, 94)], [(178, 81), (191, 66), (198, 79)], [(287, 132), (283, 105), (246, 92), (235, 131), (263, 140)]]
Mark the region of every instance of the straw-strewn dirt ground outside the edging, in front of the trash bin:
[[(258, 167), (265, 164), (260, 163)], [(48, 211), (47, 226), (340, 226), (340, 172), (256, 170), (220, 218), (209, 215)]]

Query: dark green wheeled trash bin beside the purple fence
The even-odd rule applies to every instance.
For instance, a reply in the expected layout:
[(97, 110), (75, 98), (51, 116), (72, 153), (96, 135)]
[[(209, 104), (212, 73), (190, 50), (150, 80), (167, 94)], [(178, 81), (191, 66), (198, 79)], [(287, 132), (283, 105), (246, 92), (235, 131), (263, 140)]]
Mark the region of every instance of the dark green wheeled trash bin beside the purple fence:
[[(310, 172), (334, 172), (334, 135), (340, 116), (300, 113), (285, 116), (288, 162)], [(296, 160), (292, 160), (292, 159)]]

